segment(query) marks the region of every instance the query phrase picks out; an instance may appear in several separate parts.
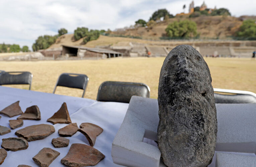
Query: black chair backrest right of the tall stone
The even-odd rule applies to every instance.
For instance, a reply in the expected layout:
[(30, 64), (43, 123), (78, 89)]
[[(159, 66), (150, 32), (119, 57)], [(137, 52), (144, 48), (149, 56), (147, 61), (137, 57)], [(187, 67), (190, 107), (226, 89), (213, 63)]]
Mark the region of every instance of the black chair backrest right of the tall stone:
[(215, 103), (256, 103), (252, 95), (222, 95), (214, 93)]

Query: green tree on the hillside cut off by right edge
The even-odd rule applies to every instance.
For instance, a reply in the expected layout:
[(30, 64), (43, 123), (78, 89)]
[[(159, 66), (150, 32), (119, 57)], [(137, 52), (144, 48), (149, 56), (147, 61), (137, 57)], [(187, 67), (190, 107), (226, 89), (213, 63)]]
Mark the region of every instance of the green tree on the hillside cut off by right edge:
[(256, 23), (255, 20), (245, 20), (237, 32), (240, 37), (256, 37)]

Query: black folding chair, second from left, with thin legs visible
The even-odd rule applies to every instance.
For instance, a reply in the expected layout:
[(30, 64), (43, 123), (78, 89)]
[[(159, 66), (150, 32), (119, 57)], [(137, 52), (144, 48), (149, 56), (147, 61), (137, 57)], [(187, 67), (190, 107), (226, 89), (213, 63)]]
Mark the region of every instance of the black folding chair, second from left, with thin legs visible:
[(84, 90), (82, 95), (82, 98), (83, 98), (88, 81), (89, 81), (89, 78), (85, 74), (62, 73), (58, 78), (58, 81), (55, 85), (53, 93), (55, 93), (57, 86), (68, 87), (68, 88), (78, 88), (78, 89)]

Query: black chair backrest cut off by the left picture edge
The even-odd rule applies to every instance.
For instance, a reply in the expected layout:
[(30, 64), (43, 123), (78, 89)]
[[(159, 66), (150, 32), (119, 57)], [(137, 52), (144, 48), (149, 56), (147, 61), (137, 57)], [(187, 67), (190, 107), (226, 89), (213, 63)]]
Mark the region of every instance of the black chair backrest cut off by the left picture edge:
[(0, 85), (28, 84), (31, 89), (33, 75), (27, 71), (1, 72)]

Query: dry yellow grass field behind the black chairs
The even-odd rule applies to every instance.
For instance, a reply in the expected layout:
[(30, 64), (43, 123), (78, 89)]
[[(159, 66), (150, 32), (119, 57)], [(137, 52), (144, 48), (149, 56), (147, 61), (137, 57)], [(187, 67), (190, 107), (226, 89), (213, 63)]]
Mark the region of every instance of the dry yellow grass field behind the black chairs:
[[(63, 72), (83, 73), (89, 77), (85, 98), (96, 99), (100, 84), (106, 80), (143, 82), (157, 98), (158, 80), (164, 57), (111, 58), (104, 60), (1, 61), (0, 70), (30, 71), (31, 90), (52, 93)], [(256, 93), (256, 60), (239, 58), (205, 58), (214, 88)], [(8, 87), (28, 89), (27, 85)], [(82, 90), (57, 87), (56, 94), (81, 97)]]

